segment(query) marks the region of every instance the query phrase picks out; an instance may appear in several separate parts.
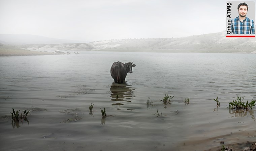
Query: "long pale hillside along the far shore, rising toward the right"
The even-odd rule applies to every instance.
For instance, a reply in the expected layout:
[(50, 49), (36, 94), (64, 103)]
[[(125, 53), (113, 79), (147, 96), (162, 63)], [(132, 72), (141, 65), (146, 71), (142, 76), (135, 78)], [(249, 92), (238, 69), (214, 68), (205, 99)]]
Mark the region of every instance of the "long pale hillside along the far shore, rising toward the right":
[(33, 51), (129, 51), (256, 53), (256, 38), (226, 38), (225, 31), (184, 38), (122, 39), (75, 44), (30, 44), (17, 47)]

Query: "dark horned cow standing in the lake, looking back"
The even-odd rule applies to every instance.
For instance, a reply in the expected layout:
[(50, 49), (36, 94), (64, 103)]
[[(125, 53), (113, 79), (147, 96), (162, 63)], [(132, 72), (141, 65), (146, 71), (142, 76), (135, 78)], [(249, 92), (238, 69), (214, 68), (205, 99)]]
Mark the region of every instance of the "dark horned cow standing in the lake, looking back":
[(132, 73), (132, 67), (135, 67), (135, 64), (128, 62), (125, 64), (122, 62), (114, 62), (110, 68), (111, 77), (114, 79), (115, 83), (123, 83), (127, 73)]

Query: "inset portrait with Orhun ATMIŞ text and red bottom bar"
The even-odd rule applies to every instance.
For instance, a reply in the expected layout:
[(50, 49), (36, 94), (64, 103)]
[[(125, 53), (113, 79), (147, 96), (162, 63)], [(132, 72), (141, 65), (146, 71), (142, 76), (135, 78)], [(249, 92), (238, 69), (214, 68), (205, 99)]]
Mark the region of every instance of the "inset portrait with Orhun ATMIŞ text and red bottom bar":
[(255, 37), (254, 1), (226, 3), (226, 37)]

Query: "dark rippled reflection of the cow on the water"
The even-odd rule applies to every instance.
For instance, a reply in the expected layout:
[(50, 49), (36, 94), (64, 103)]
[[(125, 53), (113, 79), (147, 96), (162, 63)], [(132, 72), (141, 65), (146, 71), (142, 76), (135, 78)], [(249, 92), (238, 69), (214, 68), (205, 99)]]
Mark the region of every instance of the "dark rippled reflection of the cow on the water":
[(111, 101), (127, 101), (131, 102), (129, 99), (131, 99), (133, 89), (130, 85), (127, 85), (127, 83), (117, 84), (113, 82), (113, 84), (110, 87), (111, 91)]

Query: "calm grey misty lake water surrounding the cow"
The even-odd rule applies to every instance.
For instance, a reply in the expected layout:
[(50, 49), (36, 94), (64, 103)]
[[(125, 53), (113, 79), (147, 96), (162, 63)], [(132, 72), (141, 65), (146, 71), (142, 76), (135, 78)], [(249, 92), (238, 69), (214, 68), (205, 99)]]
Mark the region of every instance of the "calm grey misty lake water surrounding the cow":
[[(110, 76), (116, 61), (136, 64), (123, 84)], [(162, 103), (165, 94), (171, 104)], [(0, 57), (0, 150), (204, 150), (255, 141), (256, 108), (229, 110), (237, 96), (256, 100), (255, 54)], [(29, 123), (13, 125), (12, 108), (30, 111)]]

